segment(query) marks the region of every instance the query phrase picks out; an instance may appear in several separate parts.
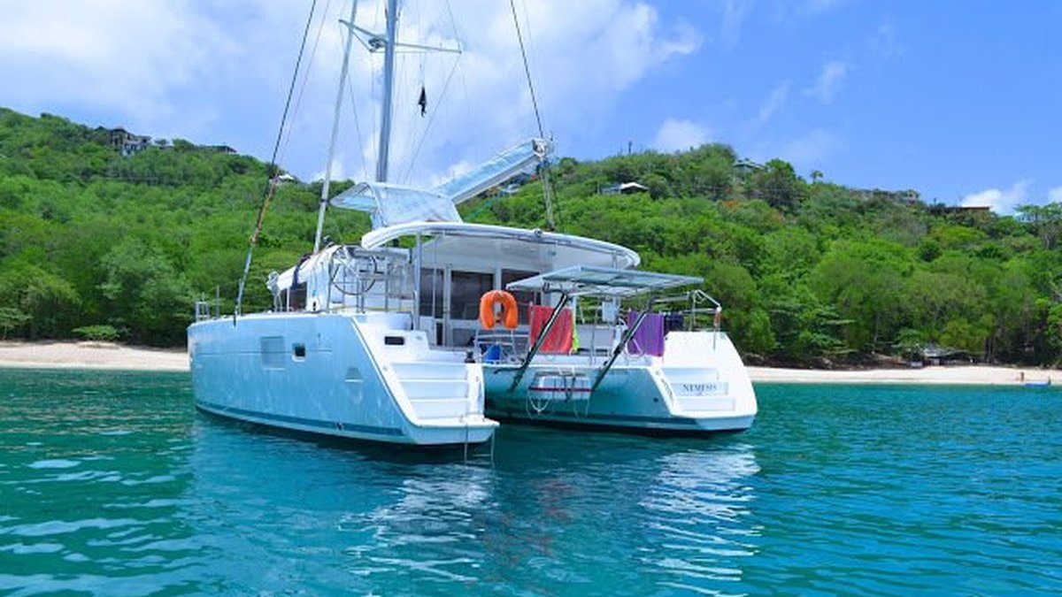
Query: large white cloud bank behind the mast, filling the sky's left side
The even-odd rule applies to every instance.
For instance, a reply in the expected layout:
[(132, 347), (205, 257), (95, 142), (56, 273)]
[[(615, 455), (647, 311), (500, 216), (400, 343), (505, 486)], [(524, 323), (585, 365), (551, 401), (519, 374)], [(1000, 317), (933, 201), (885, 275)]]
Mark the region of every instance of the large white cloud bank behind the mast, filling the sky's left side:
[[(309, 32), (308, 78), (296, 88), (291, 139), (280, 154), (303, 178), (326, 160), (341, 61), (338, 20), (349, 11), (346, 2), (329, 6)], [(413, 14), (423, 11), (435, 14)], [(517, 11), (546, 133), (562, 143), (593, 137), (623, 91), (703, 44), (688, 22), (665, 21), (640, 0), (536, 0), (517, 3)], [(378, 29), (382, 13), (381, 1), (362, 1), (357, 20)], [(537, 134), (509, 3), (465, 0), (452, 13), (451, 21), (433, 2), (401, 13), (402, 39), (460, 39), (463, 53), (398, 56), (391, 161), (398, 182), (430, 181), (451, 164), (479, 163)], [(0, 19), (0, 73), (8, 82), (0, 86), (0, 105), (224, 142), (268, 159), (305, 22), (304, 6), (260, 0), (12, 3)], [(352, 54), (345, 97), (359, 101), (344, 107), (338, 153), (346, 156), (343, 170), (359, 177), (362, 163), (372, 171), (376, 154), (379, 62), (357, 47)], [(427, 118), (415, 107), (422, 85)]]

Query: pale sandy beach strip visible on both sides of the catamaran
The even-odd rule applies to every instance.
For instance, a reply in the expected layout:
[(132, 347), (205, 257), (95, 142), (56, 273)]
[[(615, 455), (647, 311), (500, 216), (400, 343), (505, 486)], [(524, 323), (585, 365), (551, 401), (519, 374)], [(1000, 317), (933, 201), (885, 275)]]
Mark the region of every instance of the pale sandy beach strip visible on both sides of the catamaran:
[[(92, 341), (0, 341), (3, 369), (97, 369), (187, 372), (182, 348), (150, 348)], [(922, 369), (805, 370), (750, 366), (756, 383), (907, 383), (1038, 386), (1062, 382), (1062, 370), (992, 365), (943, 365)]]

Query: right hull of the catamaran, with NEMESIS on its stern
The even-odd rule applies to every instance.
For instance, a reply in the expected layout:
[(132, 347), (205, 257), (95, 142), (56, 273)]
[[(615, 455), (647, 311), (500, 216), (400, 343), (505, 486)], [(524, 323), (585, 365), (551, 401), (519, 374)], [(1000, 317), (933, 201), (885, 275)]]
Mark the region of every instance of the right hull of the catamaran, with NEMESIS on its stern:
[[(531, 423), (678, 434), (752, 426), (756, 396), (726, 335), (672, 331), (664, 354), (621, 357), (593, 391), (600, 358), (592, 363), (586, 356), (537, 356), (512, 390), (515, 366), (484, 364), (486, 412)], [(564, 389), (544, 391), (544, 382)]]

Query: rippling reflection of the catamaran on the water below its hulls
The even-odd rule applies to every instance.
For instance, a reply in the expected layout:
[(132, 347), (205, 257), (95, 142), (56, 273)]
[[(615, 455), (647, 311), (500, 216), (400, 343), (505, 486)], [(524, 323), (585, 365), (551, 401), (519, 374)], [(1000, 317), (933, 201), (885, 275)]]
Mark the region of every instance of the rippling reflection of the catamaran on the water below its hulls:
[[(195, 517), (196, 534), (228, 558), (261, 564), (234, 575), (211, 563), (208, 576), (227, 590), (264, 581), (277, 591), (312, 582), (411, 595), (644, 594), (739, 578), (725, 570), (740, 565), (755, 535), (742, 479), (757, 467), (741, 442), (586, 441), (511, 427), (493, 465), (465, 465), (460, 453), (378, 458), (374, 447), (206, 416), (194, 430), (192, 492), (209, 508)], [(224, 521), (242, 521), (255, 535), (226, 535)]]

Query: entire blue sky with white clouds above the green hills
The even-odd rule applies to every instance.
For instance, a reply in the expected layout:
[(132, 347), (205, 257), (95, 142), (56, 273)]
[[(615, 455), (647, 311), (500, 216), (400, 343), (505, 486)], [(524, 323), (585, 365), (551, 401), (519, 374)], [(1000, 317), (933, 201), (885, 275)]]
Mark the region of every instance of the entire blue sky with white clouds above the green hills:
[[(268, 159), (309, 12), (266, 0), (7, 2), (0, 105)], [(560, 155), (732, 144), (808, 177), (991, 205), (1062, 201), (1062, 2), (517, 0)], [(319, 0), (281, 165), (326, 161), (345, 0)], [(379, 2), (358, 22), (375, 27)], [(392, 178), (438, 182), (536, 133), (509, 3), (407, 0)], [(372, 172), (375, 65), (354, 58), (335, 168)], [(430, 118), (415, 96), (427, 88)]]

